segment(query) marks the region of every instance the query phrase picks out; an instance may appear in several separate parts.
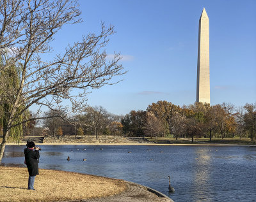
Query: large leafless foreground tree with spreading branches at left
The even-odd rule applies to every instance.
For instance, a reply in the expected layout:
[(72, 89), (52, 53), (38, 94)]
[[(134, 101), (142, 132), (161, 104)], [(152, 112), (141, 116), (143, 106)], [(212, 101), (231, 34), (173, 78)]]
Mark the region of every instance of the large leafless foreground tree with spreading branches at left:
[[(56, 33), (66, 24), (81, 22), (80, 14), (76, 0), (0, 1), (0, 53), (8, 51), (8, 59), (0, 71), (19, 66), (19, 87), (13, 92), (4, 92), (4, 96), (15, 99), (3, 129), (0, 161), (12, 127), (45, 119), (41, 115), (42, 107), (77, 112), (86, 105), (90, 89), (113, 84), (113, 76), (125, 73), (118, 64), (120, 54), (106, 61), (105, 47), (114, 30), (113, 26), (106, 27), (103, 23), (98, 35), (89, 33), (64, 48), (61, 54), (49, 58)], [(44, 54), (49, 59), (43, 59)], [(70, 101), (70, 108), (63, 106), (63, 100)], [(22, 110), (18, 110), (20, 105), (24, 106)], [(38, 116), (17, 122), (18, 117), (34, 105), (38, 106)]]

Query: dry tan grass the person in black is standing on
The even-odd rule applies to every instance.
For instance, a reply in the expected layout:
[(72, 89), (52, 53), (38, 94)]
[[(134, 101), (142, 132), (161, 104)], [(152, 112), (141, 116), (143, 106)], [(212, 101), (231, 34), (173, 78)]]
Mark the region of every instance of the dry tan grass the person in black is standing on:
[(27, 168), (0, 166), (0, 201), (65, 201), (98, 198), (126, 189), (123, 180), (66, 171), (39, 170), (28, 190)]

